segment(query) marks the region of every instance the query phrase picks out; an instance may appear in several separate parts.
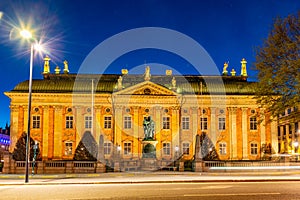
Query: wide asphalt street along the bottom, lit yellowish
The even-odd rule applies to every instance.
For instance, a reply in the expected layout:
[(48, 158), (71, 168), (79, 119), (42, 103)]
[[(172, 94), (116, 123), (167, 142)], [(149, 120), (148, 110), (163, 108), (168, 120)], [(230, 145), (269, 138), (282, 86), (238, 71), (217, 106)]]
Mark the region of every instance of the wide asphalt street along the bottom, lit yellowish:
[(299, 199), (297, 181), (0, 186), (0, 199)]

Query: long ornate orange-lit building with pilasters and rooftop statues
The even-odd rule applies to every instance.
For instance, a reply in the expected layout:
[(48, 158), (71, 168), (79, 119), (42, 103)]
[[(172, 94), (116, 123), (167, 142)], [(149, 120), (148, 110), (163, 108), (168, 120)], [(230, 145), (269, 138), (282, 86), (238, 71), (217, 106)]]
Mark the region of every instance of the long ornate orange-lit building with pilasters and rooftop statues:
[[(63, 74), (58, 68), (52, 74), (46, 58), (44, 78), (33, 80), (31, 137), (43, 160), (72, 160), (86, 135), (96, 141), (98, 159), (141, 160), (149, 144), (156, 160), (192, 160), (202, 133), (220, 160), (263, 159), (264, 146), (278, 152), (277, 122), (268, 122), (270, 116), (256, 104), (255, 83), (247, 81), (245, 60), (241, 63), (240, 76), (234, 70), (222, 76), (171, 70), (151, 75), (150, 67), (142, 75), (69, 74), (67, 63)], [(28, 81), (5, 94), (11, 99), (13, 152), (27, 131)], [(147, 141), (150, 119), (153, 136)]]

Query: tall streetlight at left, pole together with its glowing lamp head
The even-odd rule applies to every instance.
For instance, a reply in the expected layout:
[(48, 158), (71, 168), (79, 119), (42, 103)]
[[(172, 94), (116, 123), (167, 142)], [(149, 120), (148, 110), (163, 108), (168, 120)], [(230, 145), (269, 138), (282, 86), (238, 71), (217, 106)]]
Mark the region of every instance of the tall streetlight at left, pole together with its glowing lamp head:
[[(24, 29), (20, 31), (20, 35), (30, 40), (32, 34), (30, 31)], [(27, 138), (26, 138), (26, 156), (25, 156), (25, 183), (28, 183), (28, 170), (30, 159), (30, 119), (31, 119), (31, 96), (32, 96), (32, 68), (33, 68), (33, 48), (34, 44), (30, 43), (30, 66), (29, 66), (29, 93), (28, 93), (28, 121), (27, 121)]]

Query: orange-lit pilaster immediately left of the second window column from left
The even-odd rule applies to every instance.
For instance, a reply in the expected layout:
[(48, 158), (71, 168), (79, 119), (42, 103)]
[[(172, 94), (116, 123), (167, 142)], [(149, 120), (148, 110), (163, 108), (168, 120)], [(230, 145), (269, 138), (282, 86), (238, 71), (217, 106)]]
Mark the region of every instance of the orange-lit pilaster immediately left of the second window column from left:
[(62, 157), (62, 106), (55, 106), (54, 110), (54, 159)]

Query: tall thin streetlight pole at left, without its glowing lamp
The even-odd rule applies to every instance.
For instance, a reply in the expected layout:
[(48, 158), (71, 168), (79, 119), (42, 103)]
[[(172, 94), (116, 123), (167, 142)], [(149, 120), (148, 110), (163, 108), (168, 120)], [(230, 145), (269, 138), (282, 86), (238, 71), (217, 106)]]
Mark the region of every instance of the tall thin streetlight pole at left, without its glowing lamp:
[(33, 70), (33, 43), (30, 44), (30, 67), (29, 67), (29, 92), (28, 92), (28, 123), (26, 138), (26, 164), (25, 183), (28, 183), (29, 159), (30, 159), (30, 124), (31, 124), (31, 96), (32, 96), (32, 70)]

